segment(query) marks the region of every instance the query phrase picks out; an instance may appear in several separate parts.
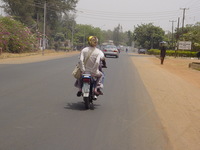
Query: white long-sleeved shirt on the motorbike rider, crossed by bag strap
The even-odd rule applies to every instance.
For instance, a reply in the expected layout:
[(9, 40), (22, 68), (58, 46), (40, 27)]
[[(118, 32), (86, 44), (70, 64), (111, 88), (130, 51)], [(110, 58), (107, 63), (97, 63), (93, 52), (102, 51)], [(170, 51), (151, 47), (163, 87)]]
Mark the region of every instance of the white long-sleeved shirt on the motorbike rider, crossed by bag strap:
[[(88, 55), (92, 52), (90, 57), (88, 58), (86, 64), (84, 61), (87, 59)], [(80, 56), (80, 66), (83, 72), (89, 72), (94, 75), (99, 75), (99, 65), (100, 60), (104, 58), (103, 52), (96, 47), (86, 47), (81, 51)]]

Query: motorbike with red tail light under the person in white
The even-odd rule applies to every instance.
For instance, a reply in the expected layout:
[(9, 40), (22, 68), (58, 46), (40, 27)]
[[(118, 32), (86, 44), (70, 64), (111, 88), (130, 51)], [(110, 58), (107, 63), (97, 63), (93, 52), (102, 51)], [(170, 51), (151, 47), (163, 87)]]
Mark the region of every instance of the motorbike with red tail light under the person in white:
[(82, 75), (82, 96), (85, 103), (85, 108), (90, 109), (93, 107), (93, 100), (97, 99), (94, 93), (96, 79), (91, 74)]

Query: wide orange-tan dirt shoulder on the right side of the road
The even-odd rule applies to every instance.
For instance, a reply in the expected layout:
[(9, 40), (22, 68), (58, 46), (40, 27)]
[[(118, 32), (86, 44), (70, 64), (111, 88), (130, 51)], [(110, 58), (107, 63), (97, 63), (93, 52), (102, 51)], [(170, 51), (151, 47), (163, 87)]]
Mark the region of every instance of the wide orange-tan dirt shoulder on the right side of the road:
[(199, 60), (134, 57), (132, 61), (152, 97), (174, 150), (200, 149), (200, 71), (188, 67)]

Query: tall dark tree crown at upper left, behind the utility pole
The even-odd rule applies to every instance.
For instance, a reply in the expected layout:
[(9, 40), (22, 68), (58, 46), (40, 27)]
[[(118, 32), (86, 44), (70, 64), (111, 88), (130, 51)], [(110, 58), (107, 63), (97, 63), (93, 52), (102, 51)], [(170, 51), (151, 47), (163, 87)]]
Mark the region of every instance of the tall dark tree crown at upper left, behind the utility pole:
[[(46, 0), (2, 0), (6, 12), (28, 27), (43, 31), (44, 3)], [(75, 10), (78, 0), (46, 1), (47, 34), (55, 33), (63, 14)]]

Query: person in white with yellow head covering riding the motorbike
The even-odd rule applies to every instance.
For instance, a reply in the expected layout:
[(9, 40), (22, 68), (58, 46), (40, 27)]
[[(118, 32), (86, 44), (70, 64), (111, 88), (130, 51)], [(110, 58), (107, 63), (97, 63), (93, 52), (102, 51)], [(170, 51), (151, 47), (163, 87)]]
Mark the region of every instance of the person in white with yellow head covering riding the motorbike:
[[(97, 78), (97, 83), (96, 87), (94, 88), (94, 93), (96, 95), (102, 95), (103, 93), (100, 90), (100, 87), (102, 86), (102, 81), (104, 74), (101, 72), (99, 69), (101, 68), (101, 61), (104, 62), (104, 67), (105, 66), (105, 56), (104, 53), (96, 48), (98, 44), (98, 38), (96, 36), (90, 36), (88, 38), (88, 44), (89, 47), (85, 47), (80, 54), (80, 68), (82, 73), (90, 73), (93, 77)], [(84, 61), (87, 59), (87, 57), (90, 55), (88, 58), (87, 62), (84, 63)], [(79, 79), (76, 83), (76, 87), (79, 88), (79, 91), (77, 93), (77, 96), (81, 96), (82, 91), (81, 91), (81, 79)]]

